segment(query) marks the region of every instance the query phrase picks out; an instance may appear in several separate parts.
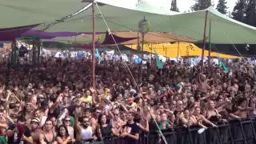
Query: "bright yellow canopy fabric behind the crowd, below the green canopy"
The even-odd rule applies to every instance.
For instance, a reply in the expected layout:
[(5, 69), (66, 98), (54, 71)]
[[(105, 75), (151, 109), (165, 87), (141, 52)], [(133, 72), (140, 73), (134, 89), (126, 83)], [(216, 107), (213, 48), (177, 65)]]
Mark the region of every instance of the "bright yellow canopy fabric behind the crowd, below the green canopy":
[[(131, 49), (137, 50), (137, 45), (125, 45)], [(143, 51), (154, 53), (154, 50), (157, 54), (168, 57), (168, 58), (177, 58), (177, 57), (186, 57), (186, 56), (202, 56), (202, 49), (195, 46), (193, 43), (187, 42), (176, 42), (174, 44), (162, 43), (162, 44), (145, 44), (143, 46)], [(208, 56), (209, 51), (205, 50), (205, 56)], [(216, 52), (210, 53), (211, 57), (220, 57), (220, 58), (241, 58), (228, 54), (220, 54)]]

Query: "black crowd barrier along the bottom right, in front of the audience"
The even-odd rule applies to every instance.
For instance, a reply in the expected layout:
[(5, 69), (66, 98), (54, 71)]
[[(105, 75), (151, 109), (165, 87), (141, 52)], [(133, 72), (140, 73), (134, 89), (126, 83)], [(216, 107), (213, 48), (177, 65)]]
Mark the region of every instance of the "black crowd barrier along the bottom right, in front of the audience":
[[(168, 144), (255, 144), (256, 118), (218, 122), (218, 127), (210, 127), (198, 134), (199, 126), (175, 127), (162, 130)], [(93, 142), (104, 144), (102, 142)], [(164, 144), (158, 131), (140, 134), (137, 144)], [(115, 138), (112, 144), (128, 144), (122, 138)]]

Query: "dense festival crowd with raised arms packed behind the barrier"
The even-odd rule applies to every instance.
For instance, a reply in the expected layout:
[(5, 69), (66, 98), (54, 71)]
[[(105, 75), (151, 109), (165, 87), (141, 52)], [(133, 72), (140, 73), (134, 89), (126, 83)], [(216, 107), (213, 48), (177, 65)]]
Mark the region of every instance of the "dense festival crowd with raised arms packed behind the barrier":
[(210, 70), (170, 61), (162, 70), (155, 62), (140, 66), (97, 63), (93, 89), (87, 58), (45, 58), (34, 66), (2, 62), (0, 142), (136, 143), (142, 131), (216, 127), (256, 115), (255, 67), (247, 62), (227, 64), (228, 73), (214, 63)]

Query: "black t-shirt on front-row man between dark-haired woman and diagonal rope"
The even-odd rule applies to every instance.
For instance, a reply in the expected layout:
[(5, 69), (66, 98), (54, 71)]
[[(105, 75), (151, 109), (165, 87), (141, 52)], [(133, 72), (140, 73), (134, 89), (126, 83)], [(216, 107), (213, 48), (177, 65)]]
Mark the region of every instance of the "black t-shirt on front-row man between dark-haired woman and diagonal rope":
[[(135, 135), (139, 134), (139, 127), (138, 125), (134, 122), (133, 124), (126, 123), (126, 126), (124, 126), (124, 129), (126, 129), (126, 133)], [(137, 141), (133, 138), (126, 137), (126, 143), (136, 143)]]

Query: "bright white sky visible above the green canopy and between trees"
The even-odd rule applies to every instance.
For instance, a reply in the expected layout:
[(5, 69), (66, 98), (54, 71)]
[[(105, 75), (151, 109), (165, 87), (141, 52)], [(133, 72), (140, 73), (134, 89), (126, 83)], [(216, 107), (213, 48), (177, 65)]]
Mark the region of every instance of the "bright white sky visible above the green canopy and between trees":
[[(137, 3), (137, 0), (100, 0), (102, 2), (110, 2), (110, 3), (115, 3), (117, 5), (121, 6), (134, 6)], [(171, 0), (144, 0), (146, 2), (149, 2), (150, 4), (158, 7), (164, 7), (166, 9), (170, 9), (170, 3)], [(213, 0), (214, 1), (214, 6), (216, 7), (218, 4), (218, 0)], [(190, 10), (190, 6), (194, 4), (194, 0), (177, 0), (177, 5), (178, 9), (180, 12), (184, 12), (186, 10)], [(237, 0), (226, 0), (227, 2), (227, 7), (229, 7), (228, 11), (232, 11), (235, 5), (235, 2)]]

